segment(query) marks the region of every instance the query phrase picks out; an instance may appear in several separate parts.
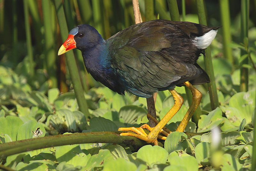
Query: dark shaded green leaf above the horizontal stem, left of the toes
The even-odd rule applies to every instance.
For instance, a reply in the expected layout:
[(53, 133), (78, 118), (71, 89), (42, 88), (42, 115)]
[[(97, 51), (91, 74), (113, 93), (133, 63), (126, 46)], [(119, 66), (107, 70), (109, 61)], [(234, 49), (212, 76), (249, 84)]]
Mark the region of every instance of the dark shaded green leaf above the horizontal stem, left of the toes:
[(103, 117), (93, 117), (90, 119), (90, 129), (95, 129), (97, 131), (116, 131), (118, 128), (116, 124)]

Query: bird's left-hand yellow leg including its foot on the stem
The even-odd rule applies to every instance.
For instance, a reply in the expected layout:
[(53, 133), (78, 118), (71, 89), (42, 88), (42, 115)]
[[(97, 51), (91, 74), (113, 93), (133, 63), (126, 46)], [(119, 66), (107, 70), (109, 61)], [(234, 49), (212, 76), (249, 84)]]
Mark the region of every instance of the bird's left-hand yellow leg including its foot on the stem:
[[(156, 127), (150, 128), (148, 126), (149, 127), (148, 130), (150, 131), (148, 135), (145, 133), (145, 131), (141, 130), (142, 128), (134, 128), (134, 127), (119, 128), (118, 130), (125, 130), (125, 131), (129, 130), (129, 131), (135, 132), (135, 133), (131, 133), (131, 132), (121, 133), (120, 135), (136, 137), (136, 138), (146, 141), (147, 143), (154, 143), (154, 145), (158, 145), (157, 138), (162, 137), (162, 136), (158, 135), (159, 132), (161, 132), (161, 130), (166, 125), (166, 123), (168, 123), (170, 121), (170, 119), (180, 110), (180, 108), (183, 104), (183, 98), (180, 96), (180, 94), (178, 94), (174, 89), (169, 90), (169, 91), (175, 100), (174, 105), (169, 110), (169, 112), (164, 116), (164, 118), (156, 125)], [(147, 126), (145, 126), (145, 127), (147, 127)], [(165, 139), (165, 138), (163, 138), (163, 139)]]

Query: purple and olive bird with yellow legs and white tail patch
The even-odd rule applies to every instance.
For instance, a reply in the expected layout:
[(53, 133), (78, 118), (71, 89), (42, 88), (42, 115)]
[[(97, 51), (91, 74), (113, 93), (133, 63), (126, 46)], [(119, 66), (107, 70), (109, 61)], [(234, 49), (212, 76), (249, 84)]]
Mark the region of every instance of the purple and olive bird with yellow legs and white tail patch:
[[(128, 131), (121, 136), (158, 145), (157, 138), (165, 140), (170, 133), (163, 130), (164, 126), (183, 104), (183, 98), (174, 90), (176, 86), (187, 86), (192, 92), (192, 104), (176, 131), (185, 130), (199, 106), (202, 93), (193, 85), (209, 83), (210, 79), (197, 60), (212, 43), (218, 28), (157, 19), (129, 26), (104, 40), (94, 27), (81, 24), (69, 32), (58, 55), (79, 49), (87, 72), (121, 95), (129, 92), (149, 98), (155, 92), (169, 90), (175, 103), (154, 128), (144, 124), (118, 129)], [(150, 132), (147, 134), (143, 129)]]

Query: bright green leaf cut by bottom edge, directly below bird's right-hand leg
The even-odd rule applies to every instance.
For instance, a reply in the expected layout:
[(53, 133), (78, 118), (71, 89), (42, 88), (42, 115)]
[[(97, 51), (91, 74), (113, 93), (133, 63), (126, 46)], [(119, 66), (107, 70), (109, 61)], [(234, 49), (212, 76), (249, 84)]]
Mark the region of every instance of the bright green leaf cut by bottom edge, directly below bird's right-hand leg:
[[(189, 171), (198, 171), (198, 163), (197, 163), (195, 157), (192, 157), (192, 156), (184, 156), (184, 157), (174, 156), (168, 161), (170, 162), (171, 166), (178, 166), (179, 168), (181, 167), (182, 169), (183, 169), (183, 167), (185, 167), (186, 170), (189, 170)], [(178, 170), (180, 170), (180, 169), (178, 169)]]

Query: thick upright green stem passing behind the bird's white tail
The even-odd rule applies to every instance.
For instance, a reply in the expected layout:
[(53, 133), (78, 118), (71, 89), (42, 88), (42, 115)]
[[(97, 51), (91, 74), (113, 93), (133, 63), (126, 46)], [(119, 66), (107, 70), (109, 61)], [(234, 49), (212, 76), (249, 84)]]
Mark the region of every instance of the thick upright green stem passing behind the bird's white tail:
[[(196, 6), (197, 6), (199, 23), (207, 26), (205, 11), (204, 11), (204, 1), (196, 0)], [(216, 84), (215, 84), (215, 77), (214, 77), (214, 72), (213, 72), (212, 56), (211, 56), (210, 47), (205, 49), (204, 64), (205, 64), (205, 71), (209, 75), (209, 78), (211, 81), (207, 85), (208, 85), (209, 94), (210, 94), (211, 107), (213, 110), (219, 106), (219, 100), (218, 100), (217, 89), (216, 89)]]

